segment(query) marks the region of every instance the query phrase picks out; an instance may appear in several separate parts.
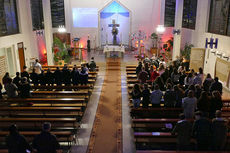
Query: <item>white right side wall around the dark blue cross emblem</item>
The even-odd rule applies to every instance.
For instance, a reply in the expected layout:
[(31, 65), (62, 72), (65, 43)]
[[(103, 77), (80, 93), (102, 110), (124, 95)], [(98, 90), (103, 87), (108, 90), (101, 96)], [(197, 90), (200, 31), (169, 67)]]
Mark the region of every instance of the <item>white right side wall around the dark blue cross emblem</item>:
[[(210, 0), (198, 0), (197, 5), (197, 17), (196, 17), (196, 29), (182, 29), (182, 43), (183, 48), (186, 42), (194, 45), (196, 48), (205, 48), (206, 38), (210, 39), (218, 38), (218, 50), (219, 52), (225, 53), (230, 56), (230, 37), (208, 33), (208, 21), (209, 21), (209, 8)], [(209, 53), (209, 54), (208, 54)], [(208, 56), (209, 55), (209, 56)], [(215, 72), (216, 56), (210, 53), (209, 49), (206, 49), (206, 60), (204, 72), (210, 73), (214, 76)]]

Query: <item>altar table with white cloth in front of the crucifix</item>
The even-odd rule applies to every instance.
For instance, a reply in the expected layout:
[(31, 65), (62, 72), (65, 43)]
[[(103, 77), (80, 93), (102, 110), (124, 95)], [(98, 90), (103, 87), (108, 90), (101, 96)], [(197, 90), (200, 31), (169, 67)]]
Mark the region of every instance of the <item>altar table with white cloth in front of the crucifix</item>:
[(103, 53), (105, 54), (105, 57), (111, 57), (114, 55), (117, 55), (118, 57), (123, 57), (125, 53), (125, 47), (115, 46), (115, 45), (106, 45), (104, 46)]

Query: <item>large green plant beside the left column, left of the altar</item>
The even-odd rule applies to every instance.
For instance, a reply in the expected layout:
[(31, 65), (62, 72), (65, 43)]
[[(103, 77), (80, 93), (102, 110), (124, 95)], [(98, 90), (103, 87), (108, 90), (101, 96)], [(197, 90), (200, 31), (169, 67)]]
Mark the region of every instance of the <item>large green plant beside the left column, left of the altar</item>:
[(71, 60), (71, 56), (69, 55), (70, 46), (65, 45), (61, 42), (61, 40), (57, 37), (54, 37), (53, 41), (53, 53), (54, 53), (54, 61), (56, 65), (64, 65), (68, 64)]

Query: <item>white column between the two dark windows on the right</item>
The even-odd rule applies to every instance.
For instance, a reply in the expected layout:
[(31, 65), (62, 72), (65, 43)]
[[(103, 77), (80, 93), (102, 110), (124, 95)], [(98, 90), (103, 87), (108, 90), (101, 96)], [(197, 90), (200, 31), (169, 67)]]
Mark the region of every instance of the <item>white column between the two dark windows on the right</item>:
[[(180, 29), (180, 31), (182, 30), (183, 6), (184, 0), (176, 0), (174, 29)], [(177, 56), (180, 57), (181, 34), (174, 34), (173, 38), (172, 60), (176, 60)]]

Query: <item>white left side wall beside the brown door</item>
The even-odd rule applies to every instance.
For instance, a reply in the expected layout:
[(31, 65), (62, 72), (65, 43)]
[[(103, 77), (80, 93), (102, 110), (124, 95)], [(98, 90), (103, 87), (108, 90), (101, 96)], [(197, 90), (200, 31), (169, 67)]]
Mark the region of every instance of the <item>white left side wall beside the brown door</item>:
[[(19, 9), (20, 8), (20, 9)], [(20, 71), (17, 43), (23, 42), (26, 65), (29, 66), (31, 57), (38, 57), (35, 34), (32, 33), (30, 0), (17, 0), (18, 23), (20, 33), (0, 37), (0, 48), (13, 47), (16, 59), (16, 71)]]

